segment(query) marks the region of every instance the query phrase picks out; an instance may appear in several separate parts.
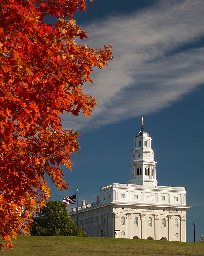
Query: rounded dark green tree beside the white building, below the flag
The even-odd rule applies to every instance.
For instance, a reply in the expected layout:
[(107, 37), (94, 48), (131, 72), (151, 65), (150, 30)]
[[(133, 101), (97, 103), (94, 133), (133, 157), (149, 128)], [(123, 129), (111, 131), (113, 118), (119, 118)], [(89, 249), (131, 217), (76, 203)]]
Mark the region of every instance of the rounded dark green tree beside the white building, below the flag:
[(87, 236), (69, 218), (67, 206), (61, 201), (49, 201), (34, 218), (32, 235), (40, 236)]

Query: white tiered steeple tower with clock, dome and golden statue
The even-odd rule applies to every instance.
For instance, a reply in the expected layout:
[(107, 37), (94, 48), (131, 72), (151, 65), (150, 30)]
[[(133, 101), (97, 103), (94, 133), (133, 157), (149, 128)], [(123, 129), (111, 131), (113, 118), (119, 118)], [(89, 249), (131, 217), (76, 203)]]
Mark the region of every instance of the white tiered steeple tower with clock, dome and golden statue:
[(134, 138), (132, 161), (130, 162), (130, 184), (157, 186), (156, 162), (154, 150), (151, 149), (151, 137), (144, 131), (144, 118), (142, 117), (141, 131)]

